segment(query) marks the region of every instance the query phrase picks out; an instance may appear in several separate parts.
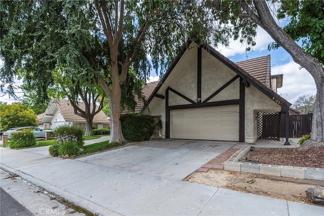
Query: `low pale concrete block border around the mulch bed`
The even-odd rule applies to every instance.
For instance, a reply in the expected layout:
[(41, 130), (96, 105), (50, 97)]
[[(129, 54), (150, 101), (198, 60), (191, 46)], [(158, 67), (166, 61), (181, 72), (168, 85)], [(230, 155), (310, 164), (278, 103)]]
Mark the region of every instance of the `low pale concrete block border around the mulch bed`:
[(224, 162), (224, 169), (270, 176), (324, 181), (323, 168), (278, 166), (263, 163), (238, 162), (238, 159), (240, 159), (248, 151), (250, 151), (251, 146), (252, 145), (246, 145), (236, 153), (234, 153), (227, 161)]

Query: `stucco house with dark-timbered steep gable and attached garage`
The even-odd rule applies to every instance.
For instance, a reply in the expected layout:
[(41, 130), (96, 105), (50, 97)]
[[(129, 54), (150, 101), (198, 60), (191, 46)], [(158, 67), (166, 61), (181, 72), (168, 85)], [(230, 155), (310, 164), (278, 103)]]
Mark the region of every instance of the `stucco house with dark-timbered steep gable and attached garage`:
[[(147, 106), (139, 102), (136, 111), (162, 120), (162, 138), (255, 143), (260, 130), (277, 127), (267, 119), (271, 113), (287, 123), (294, 112), (276, 93), (282, 80), (271, 76), (269, 55), (235, 64), (188, 41), (164, 77), (143, 87)], [(285, 145), (287, 133), (288, 127)]]

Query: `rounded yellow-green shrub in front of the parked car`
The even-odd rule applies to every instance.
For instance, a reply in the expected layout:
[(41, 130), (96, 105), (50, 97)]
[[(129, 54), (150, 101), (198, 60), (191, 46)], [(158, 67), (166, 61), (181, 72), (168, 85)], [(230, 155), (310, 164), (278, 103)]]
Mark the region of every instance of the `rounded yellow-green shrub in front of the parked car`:
[(8, 145), (12, 149), (34, 146), (36, 145), (36, 138), (31, 129), (24, 129), (23, 131), (11, 133)]

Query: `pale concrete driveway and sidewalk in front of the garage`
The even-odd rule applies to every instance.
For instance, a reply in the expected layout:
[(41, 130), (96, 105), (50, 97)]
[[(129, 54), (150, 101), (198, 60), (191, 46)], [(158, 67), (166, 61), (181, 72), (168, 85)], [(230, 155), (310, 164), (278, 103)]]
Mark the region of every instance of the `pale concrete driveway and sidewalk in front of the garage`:
[(324, 214), (319, 206), (182, 181), (236, 145), (156, 140), (74, 160), (8, 148), (0, 156), (2, 168), (99, 215)]

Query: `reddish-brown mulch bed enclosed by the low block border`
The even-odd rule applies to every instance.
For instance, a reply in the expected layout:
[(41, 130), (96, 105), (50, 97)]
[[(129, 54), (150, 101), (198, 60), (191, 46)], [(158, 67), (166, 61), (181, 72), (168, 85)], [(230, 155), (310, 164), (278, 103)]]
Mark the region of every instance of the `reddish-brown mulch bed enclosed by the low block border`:
[(324, 147), (255, 148), (242, 160), (264, 164), (324, 168)]

